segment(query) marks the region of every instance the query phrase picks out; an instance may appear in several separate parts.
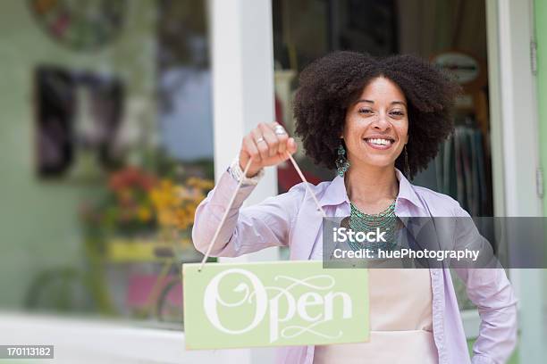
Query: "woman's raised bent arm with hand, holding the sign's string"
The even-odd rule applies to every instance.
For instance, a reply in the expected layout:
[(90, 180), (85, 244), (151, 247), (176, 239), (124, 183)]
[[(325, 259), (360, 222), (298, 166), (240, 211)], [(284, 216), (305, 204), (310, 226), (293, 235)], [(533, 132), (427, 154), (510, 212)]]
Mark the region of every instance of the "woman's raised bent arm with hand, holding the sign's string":
[[(241, 208), (263, 169), (287, 160), (287, 151), (295, 153), (296, 143), (277, 123), (261, 123), (243, 138), (239, 158), (223, 173), (196, 210), (192, 240), (199, 252), (205, 253), (208, 249), (240, 178), (243, 178), (240, 190), (215, 240), (211, 255), (234, 257), (269, 246), (289, 244), (290, 226), (305, 194), (303, 186), (294, 186), (286, 194)], [(247, 176), (243, 176), (242, 170), (250, 158), (252, 161)]]

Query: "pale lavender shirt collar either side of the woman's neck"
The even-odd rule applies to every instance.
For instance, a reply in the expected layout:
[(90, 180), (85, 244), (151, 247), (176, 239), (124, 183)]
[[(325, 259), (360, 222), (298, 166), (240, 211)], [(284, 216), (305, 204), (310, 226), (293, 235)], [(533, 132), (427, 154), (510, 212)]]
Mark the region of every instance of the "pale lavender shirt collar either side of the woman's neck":
[[(399, 194), (397, 195), (397, 199), (404, 199), (415, 205), (418, 209), (424, 209), (414, 186), (408, 182), (408, 179), (400, 170), (395, 169), (395, 175), (399, 180)], [(344, 178), (337, 175), (325, 189), (323, 196), (319, 199), (319, 204), (321, 204), (321, 207), (324, 207), (327, 205), (339, 205), (344, 202), (349, 203), (348, 192), (346, 191)]]

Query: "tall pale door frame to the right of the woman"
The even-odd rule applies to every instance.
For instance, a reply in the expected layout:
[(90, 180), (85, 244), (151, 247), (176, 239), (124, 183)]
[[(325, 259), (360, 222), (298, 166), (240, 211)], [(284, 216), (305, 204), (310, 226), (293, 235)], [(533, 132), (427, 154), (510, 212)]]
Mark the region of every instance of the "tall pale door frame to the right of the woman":
[[(485, 0), (488, 29), (492, 183), (496, 216), (543, 216), (536, 194), (540, 166), (530, 0)], [(543, 358), (540, 269), (510, 269), (519, 309), (520, 362)]]

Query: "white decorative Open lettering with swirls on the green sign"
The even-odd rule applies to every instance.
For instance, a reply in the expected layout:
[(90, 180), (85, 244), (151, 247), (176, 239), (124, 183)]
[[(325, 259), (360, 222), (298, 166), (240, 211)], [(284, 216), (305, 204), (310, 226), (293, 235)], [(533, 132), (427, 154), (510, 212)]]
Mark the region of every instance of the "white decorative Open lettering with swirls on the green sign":
[[(249, 286), (248, 283), (240, 283), (233, 291), (241, 293), (242, 298), (236, 302), (225, 302), (220, 296), (218, 288), (224, 277), (234, 274), (247, 277), (251, 286)], [(328, 334), (321, 332), (318, 326), (331, 321), (334, 318), (335, 302), (340, 302), (339, 304), (341, 304), (342, 318), (352, 317), (353, 307), (349, 294), (329, 291), (326, 294), (321, 295), (317, 292), (310, 291), (301, 294), (299, 297), (295, 297), (290, 291), (297, 286), (304, 286), (310, 288), (310, 290), (327, 291), (334, 286), (335, 282), (333, 277), (328, 275), (317, 275), (304, 279), (297, 279), (288, 276), (277, 276), (274, 279), (276, 281), (286, 280), (289, 282), (289, 285), (284, 287), (265, 286), (255, 274), (246, 269), (224, 270), (213, 277), (211, 282), (206, 286), (204, 308), (207, 318), (215, 328), (226, 334), (244, 334), (263, 322), (265, 315), (267, 314), (269, 316), (270, 343), (277, 341), (280, 335), (282, 338), (289, 339), (304, 332), (332, 339), (341, 337), (341, 331), (335, 334)], [(314, 283), (317, 281), (324, 281), (325, 283), (324, 285)], [(268, 298), (268, 291), (276, 294), (274, 294), (273, 297)], [(239, 307), (246, 303), (252, 303), (255, 299), (254, 318), (247, 327), (233, 330), (223, 326), (218, 314), (219, 305), (225, 308)], [(283, 316), (280, 316), (280, 307), (282, 303), (284, 303), (287, 311)], [(308, 310), (314, 307), (322, 307), (323, 310), (320, 310), (320, 312), (312, 316)], [(284, 327), (280, 331), (280, 324), (290, 321), (295, 318), (295, 315), (298, 315), (299, 318), (308, 322), (309, 325), (304, 327), (292, 325)]]

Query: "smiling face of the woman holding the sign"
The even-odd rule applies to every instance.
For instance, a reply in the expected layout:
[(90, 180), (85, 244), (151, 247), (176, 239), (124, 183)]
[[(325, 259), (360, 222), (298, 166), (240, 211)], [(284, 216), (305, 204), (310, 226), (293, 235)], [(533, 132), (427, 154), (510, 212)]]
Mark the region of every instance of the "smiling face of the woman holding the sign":
[(390, 79), (372, 79), (349, 105), (342, 134), (352, 167), (394, 166), (408, 142), (407, 99)]

